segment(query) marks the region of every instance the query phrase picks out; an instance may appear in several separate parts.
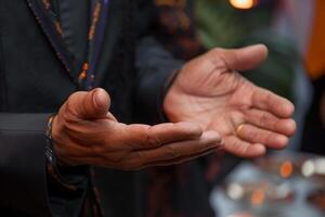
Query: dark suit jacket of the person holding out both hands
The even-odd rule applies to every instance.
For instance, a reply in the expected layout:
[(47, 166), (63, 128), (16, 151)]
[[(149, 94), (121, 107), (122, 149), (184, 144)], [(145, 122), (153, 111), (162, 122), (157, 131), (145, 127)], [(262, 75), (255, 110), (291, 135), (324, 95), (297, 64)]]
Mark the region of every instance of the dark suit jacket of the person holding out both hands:
[[(34, 3), (0, 0), (0, 216), (74, 216), (81, 209), (87, 186), (74, 193), (49, 186), (44, 131), (49, 114), (77, 90), (78, 75), (66, 72), (28, 7)], [(148, 17), (154, 11), (145, 0), (110, 0), (108, 11), (95, 86), (109, 92), (112, 113), (120, 122), (161, 122), (166, 80), (181, 62), (151, 37)], [(212, 215), (200, 166), (187, 166), (139, 173), (96, 168), (105, 215)], [(174, 186), (174, 177), (181, 177), (181, 188)], [(184, 207), (185, 213), (171, 212)]]

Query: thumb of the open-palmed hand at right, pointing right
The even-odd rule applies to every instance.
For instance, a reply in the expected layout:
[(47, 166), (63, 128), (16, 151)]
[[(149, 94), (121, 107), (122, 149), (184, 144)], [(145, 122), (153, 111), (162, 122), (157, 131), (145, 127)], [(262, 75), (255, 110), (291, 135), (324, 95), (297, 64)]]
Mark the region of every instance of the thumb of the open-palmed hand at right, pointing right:
[(268, 58), (264, 44), (248, 46), (240, 49), (214, 49), (216, 56), (222, 58), (229, 69), (248, 71), (257, 67)]

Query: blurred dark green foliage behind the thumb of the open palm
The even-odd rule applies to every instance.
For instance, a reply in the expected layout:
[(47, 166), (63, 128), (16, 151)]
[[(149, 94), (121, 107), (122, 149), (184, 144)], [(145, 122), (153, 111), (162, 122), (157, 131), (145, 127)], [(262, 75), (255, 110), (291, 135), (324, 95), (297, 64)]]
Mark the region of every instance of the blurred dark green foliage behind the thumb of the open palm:
[[(275, 2), (275, 1), (273, 1)], [(295, 43), (272, 29), (274, 5), (250, 10), (233, 8), (227, 0), (197, 0), (197, 33), (206, 49), (264, 43), (269, 59), (243, 75), (255, 84), (295, 101), (294, 80), (300, 59)]]

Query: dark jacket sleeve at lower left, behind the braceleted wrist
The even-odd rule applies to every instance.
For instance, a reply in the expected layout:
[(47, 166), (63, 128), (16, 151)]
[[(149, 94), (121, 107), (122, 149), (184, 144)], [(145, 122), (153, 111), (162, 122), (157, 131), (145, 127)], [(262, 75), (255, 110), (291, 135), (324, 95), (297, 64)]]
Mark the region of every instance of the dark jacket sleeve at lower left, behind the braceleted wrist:
[(46, 167), (49, 114), (0, 113), (0, 204), (26, 216), (75, 216), (87, 183), (61, 189)]

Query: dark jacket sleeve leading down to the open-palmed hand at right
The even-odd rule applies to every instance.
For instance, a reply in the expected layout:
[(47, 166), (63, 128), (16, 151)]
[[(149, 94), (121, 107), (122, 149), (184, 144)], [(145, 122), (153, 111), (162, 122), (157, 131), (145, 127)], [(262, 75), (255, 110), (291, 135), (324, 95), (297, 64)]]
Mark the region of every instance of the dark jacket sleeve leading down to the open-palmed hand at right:
[(155, 8), (152, 1), (139, 1), (139, 40), (136, 48), (136, 120), (157, 124), (167, 120), (162, 102), (173, 76), (183, 62), (177, 60), (153, 36)]

